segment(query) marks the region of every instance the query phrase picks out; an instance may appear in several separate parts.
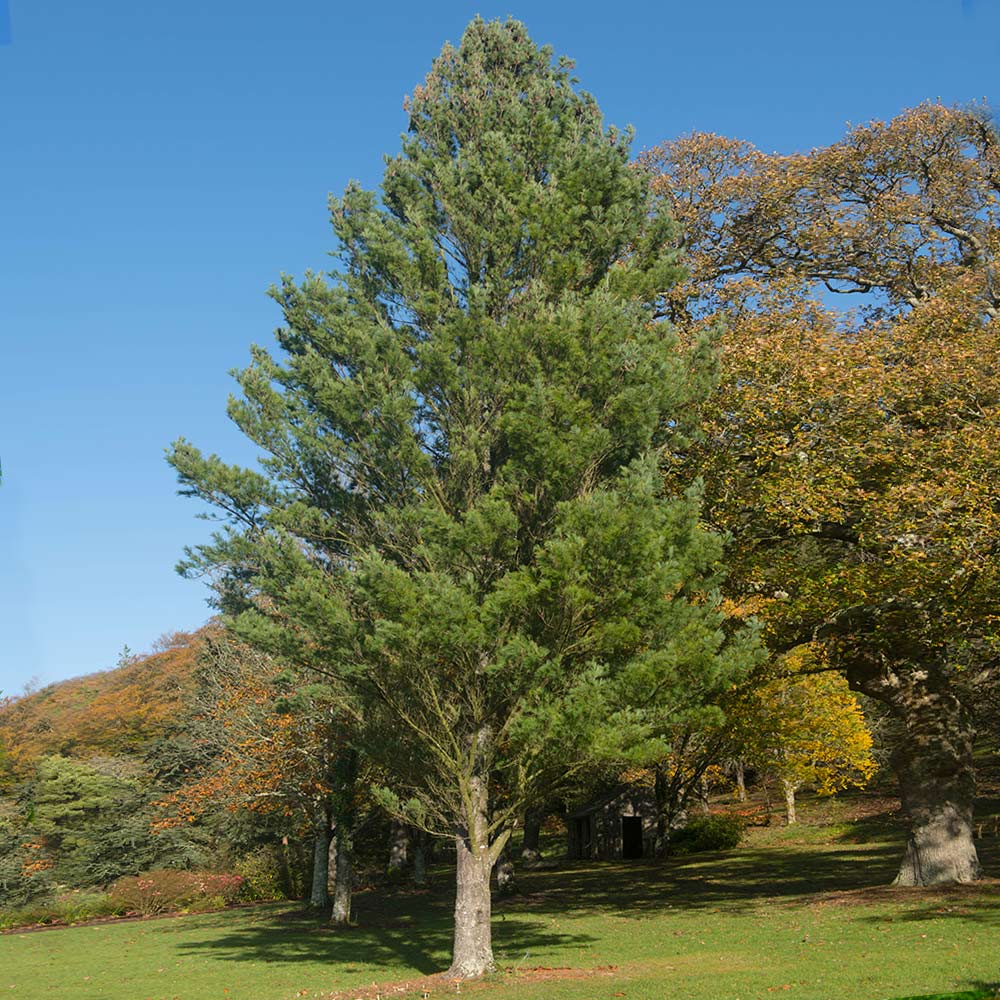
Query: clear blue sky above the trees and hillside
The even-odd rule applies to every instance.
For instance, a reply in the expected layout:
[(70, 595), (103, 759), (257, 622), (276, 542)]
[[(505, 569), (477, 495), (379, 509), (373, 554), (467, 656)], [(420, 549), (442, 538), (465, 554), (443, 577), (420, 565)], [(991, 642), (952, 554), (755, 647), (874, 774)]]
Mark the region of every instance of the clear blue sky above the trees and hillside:
[(476, 13), (575, 58), (637, 148), (791, 151), (1000, 102), (1000, 0), (0, 0), (0, 689), (208, 616), (173, 571), (208, 526), (163, 449), (251, 457), (224, 407), (278, 322), (265, 289), (327, 266), (327, 193), (377, 183), (403, 96)]

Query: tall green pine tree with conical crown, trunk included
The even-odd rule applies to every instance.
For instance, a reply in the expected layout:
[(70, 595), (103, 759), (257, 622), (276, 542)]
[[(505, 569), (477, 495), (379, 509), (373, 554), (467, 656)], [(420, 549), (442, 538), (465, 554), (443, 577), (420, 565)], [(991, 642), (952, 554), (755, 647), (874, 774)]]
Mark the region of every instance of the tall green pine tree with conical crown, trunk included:
[(239, 377), (262, 471), (171, 461), (228, 521), (189, 571), (363, 695), (383, 801), (453, 838), (461, 978), (493, 963), (490, 874), (553, 758), (739, 657), (719, 542), (664, 488), (710, 365), (655, 319), (677, 268), (630, 136), (516, 21), (473, 21), (406, 107), (381, 193), (332, 202), (340, 269), (283, 281), (282, 356)]

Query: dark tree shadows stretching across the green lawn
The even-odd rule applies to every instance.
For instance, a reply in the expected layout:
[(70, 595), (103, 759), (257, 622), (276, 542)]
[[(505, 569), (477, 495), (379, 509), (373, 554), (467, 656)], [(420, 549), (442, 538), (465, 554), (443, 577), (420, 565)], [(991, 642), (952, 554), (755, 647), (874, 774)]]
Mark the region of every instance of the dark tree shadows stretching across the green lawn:
[[(933, 890), (891, 889), (897, 844), (813, 848), (783, 846), (702, 854), (667, 861), (567, 862), (557, 869), (519, 871), (520, 892), (494, 903), (498, 953), (577, 950), (596, 939), (556, 932), (553, 915), (608, 914), (643, 919), (652, 912), (757, 910), (796, 900), (899, 906), (895, 920), (919, 921), (954, 913), (966, 920), (1000, 919), (1000, 886)], [(221, 961), (324, 962), (393, 967), (405, 974), (440, 971), (451, 951), (452, 872), (435, 872), (432, 889), (369, 889), (355, 897), (357, 925), (332, 928), (305, 912), (270, 913), (258, 923), (179, 947)], [(910, 905), (917, 904), (917, 905)], [(861, 919), (885, 919), (884, 913)], [(558, 959), (557, 959), (558, 960)]]

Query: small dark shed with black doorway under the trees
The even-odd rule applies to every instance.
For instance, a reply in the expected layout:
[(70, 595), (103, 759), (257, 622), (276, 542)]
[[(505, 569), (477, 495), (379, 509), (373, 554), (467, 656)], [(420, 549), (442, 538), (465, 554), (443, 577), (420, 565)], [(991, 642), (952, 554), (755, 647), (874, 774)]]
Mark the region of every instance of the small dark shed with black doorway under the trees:
[(656, 802), (651, 789), (624, 785), (567, 816), (568, 856), (601, 861), (651, 858)]

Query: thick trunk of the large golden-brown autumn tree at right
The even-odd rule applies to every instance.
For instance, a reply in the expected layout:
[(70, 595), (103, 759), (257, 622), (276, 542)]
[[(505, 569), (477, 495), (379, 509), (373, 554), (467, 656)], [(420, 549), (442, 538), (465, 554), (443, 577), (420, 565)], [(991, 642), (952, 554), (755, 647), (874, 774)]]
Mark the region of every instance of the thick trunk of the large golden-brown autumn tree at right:
[(892, 763), (910, 833), (893, 884), (975, 881), (981, 874), (972, 823), (975, 732), (947, 668), (859, 657), (847, 677), (855, 690), (887, 705), (903, 728)]

